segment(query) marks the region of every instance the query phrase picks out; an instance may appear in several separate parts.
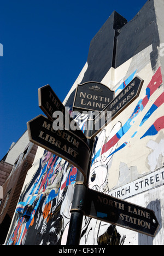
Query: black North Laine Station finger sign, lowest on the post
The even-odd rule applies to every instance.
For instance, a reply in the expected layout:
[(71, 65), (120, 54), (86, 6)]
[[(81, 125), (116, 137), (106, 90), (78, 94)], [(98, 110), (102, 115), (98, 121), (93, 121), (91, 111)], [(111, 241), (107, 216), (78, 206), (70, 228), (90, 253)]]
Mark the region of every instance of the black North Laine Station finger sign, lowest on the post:
[(87, 192), (85, 215), (148, 236), (155, 236), (159, 228), (155, 213), (148, 208), (91, 189)]

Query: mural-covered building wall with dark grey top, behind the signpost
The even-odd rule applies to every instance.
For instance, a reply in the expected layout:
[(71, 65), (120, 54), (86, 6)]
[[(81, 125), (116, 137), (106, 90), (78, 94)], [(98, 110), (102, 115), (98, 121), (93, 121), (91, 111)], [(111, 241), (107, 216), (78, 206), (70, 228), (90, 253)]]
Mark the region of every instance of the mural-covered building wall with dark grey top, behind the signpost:
[[(92, 39), (86, 65), (64, 102), (72, 110), (78, 83), (96, 80), (116, 96), (136, 75), (144, 80), (139, 97), (97, 135), (89, 188), (154, 210), (160, 228), (151, 238), (84, 217), (80, 245), (163, 244), (162, 11), (163, 1), (150, 0), (128, 23), (114, 12)], [(6, 244), (65, 245), (76, 176), (74, 166), (38, 148)], [(25, 218), (27, 205), (32, 211)]]

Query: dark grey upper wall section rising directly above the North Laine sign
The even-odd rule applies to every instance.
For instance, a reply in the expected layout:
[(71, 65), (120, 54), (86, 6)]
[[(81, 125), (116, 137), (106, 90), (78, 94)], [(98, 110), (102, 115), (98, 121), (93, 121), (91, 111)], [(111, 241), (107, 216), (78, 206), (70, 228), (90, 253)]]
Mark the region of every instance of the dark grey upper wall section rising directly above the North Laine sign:
[(101, 82), (113, 65), (113, 57), (115, 59), (117, 31), (126, 23), (127, 20), (114, 11), (91, 40), (87, 57), (88, 68), (81, 83)]

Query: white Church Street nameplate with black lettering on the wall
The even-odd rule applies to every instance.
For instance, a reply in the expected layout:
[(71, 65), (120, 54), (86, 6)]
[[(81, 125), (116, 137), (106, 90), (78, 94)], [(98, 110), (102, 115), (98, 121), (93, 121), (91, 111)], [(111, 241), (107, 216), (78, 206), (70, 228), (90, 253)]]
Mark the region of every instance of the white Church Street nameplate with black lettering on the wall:
[(120, 188), (110, 190), (109, 195), (118, 199), (126, 199), (161, 185), (164, 185), (164, 168), (152, 172)]

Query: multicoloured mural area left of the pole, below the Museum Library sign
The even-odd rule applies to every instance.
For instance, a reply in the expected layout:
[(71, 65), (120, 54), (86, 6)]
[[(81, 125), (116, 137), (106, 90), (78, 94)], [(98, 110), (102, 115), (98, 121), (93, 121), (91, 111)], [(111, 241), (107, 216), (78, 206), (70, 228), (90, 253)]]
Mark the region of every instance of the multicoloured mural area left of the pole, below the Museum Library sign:
[[(57, 156), (45, 152), (40, 160), (35, 181), (28, 185), (28, 193), (22, 197), (25, 205), (32, 206), (31, 215), (29, 218), (24, 218), (23, 216), (26, 215), (24, 210), (17, 220), (16, 229), (9, 244), (28, 244), (29, 231), (37, 231), (34, 244), (60, 244), (66, 218), (60, 213), (61, 203), (65, 199), (67, 186), (75, 182), (75, 175), (74, 167)], [(63, 181), (66, 183), (62, 184)]]

